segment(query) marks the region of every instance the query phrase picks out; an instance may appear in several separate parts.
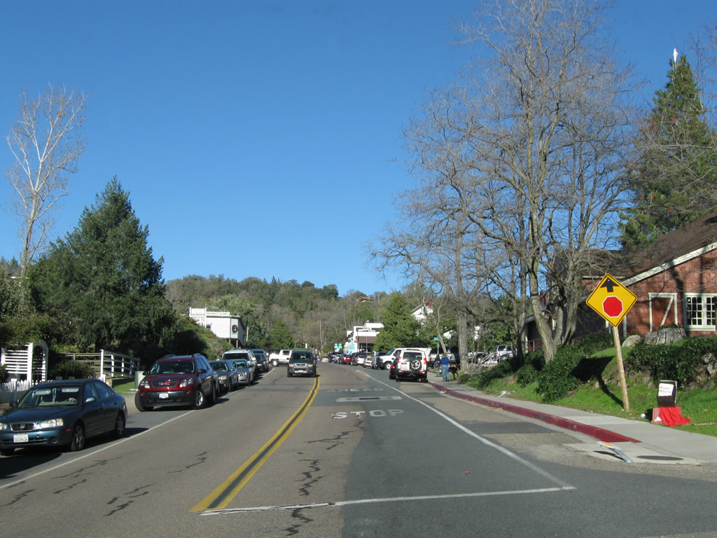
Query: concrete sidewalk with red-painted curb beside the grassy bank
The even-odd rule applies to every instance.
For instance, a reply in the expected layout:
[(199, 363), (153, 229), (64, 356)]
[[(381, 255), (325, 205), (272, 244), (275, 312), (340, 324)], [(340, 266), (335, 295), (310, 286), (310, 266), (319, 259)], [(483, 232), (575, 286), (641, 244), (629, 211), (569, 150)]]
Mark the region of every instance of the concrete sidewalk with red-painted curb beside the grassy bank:
[(431, 384), (448, 396), (589, 435), (596, 443), (607, 443), (604, 450), (617, 448), (616, 453), (622, 452), (632, 463), (717, 463), (717, 437), (711, 435), (676, 430), (647, 420), (629, 420), (559, 405), (486, 395), (456, 381), (437, 379)]

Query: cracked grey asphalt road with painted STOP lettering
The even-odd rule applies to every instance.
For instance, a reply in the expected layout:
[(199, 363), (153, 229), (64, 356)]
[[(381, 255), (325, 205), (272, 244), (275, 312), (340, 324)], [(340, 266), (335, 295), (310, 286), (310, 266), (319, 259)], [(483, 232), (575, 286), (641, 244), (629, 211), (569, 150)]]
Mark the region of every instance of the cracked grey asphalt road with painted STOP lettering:
[(595, 458), (594, 440), (428, 384), (319, 372), (133, 412), (81, 453), (1, 457), (0, 535), (717, 537), (712, 466)]

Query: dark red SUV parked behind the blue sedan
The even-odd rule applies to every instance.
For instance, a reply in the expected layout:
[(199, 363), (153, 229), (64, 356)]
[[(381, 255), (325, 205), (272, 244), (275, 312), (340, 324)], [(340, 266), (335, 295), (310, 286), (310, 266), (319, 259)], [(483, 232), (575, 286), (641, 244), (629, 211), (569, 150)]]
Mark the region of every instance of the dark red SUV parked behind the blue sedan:
[(135, 395), (139, 411), (165, 405), (192, 405), (201, 409), (217, 402), (217, 374), (204, 355), (168, 355), (158, 359), (144, 374)]

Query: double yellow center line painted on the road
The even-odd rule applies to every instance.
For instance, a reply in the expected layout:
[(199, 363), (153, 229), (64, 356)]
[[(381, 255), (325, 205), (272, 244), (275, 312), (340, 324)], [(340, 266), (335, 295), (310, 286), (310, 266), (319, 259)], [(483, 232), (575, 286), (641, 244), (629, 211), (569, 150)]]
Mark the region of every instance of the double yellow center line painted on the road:
[(318, 380), (319, 378), (316, 377), (314, 380), (314, 386), (311, 389), (311, 392), (309, 392), (308, 397), (306, 397), (306, 400), (304, 400), (301, 407), (299, 407), (293, 416), (286, 421), (280, 430), (277, 431), (277, 433), (275, 433), (274, 436), (268, 440), (267, 443), (257, 451), (257, 453), (255, 453), (254, 456), (249, 458), (249, 460), (244, 463), (244, 465), (239, 467), (237, 471), (234, 471), (232, 476), (229, 476), (229, 478), (227, 478), (221, 486), (212, 491), (212, 493), (208, 496), (204, 497), (204, 499), (202, 499), (199, 504), (194, 506), (191, 511), (199, 512), (203, 510), (218, 510), (227, 507), (227, 504), (229, 504), (232, 499), (237, 496), (244, 485), (250, 481), (250, 478), (252, 478), (252, 476), (259, 471), (265, 461), (267, 461), (274, 451), (279, 448), (281, 443), (288, 438), (295, 426), (301, 422), (301, 419), (309, 410), (311, 402), (313, 402), (313, 399), (316, 397), (316, 393), (318, 392)]

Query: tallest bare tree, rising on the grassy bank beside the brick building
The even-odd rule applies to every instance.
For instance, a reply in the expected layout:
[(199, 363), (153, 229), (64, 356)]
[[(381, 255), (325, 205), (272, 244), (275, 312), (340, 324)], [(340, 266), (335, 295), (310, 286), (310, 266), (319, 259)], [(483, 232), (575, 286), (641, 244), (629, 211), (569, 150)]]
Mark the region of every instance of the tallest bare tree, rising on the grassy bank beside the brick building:
[(547, 361), (573, 336), (581, 278), (624, 209), (634, 88), (600, 33), (603, 15), (591, 0), (486, 0), (462, 27), (481, 51), (465, 83), (469, 114), (452, 121), (473, 147), (483, 211), (469, 215), (518, 264)]

